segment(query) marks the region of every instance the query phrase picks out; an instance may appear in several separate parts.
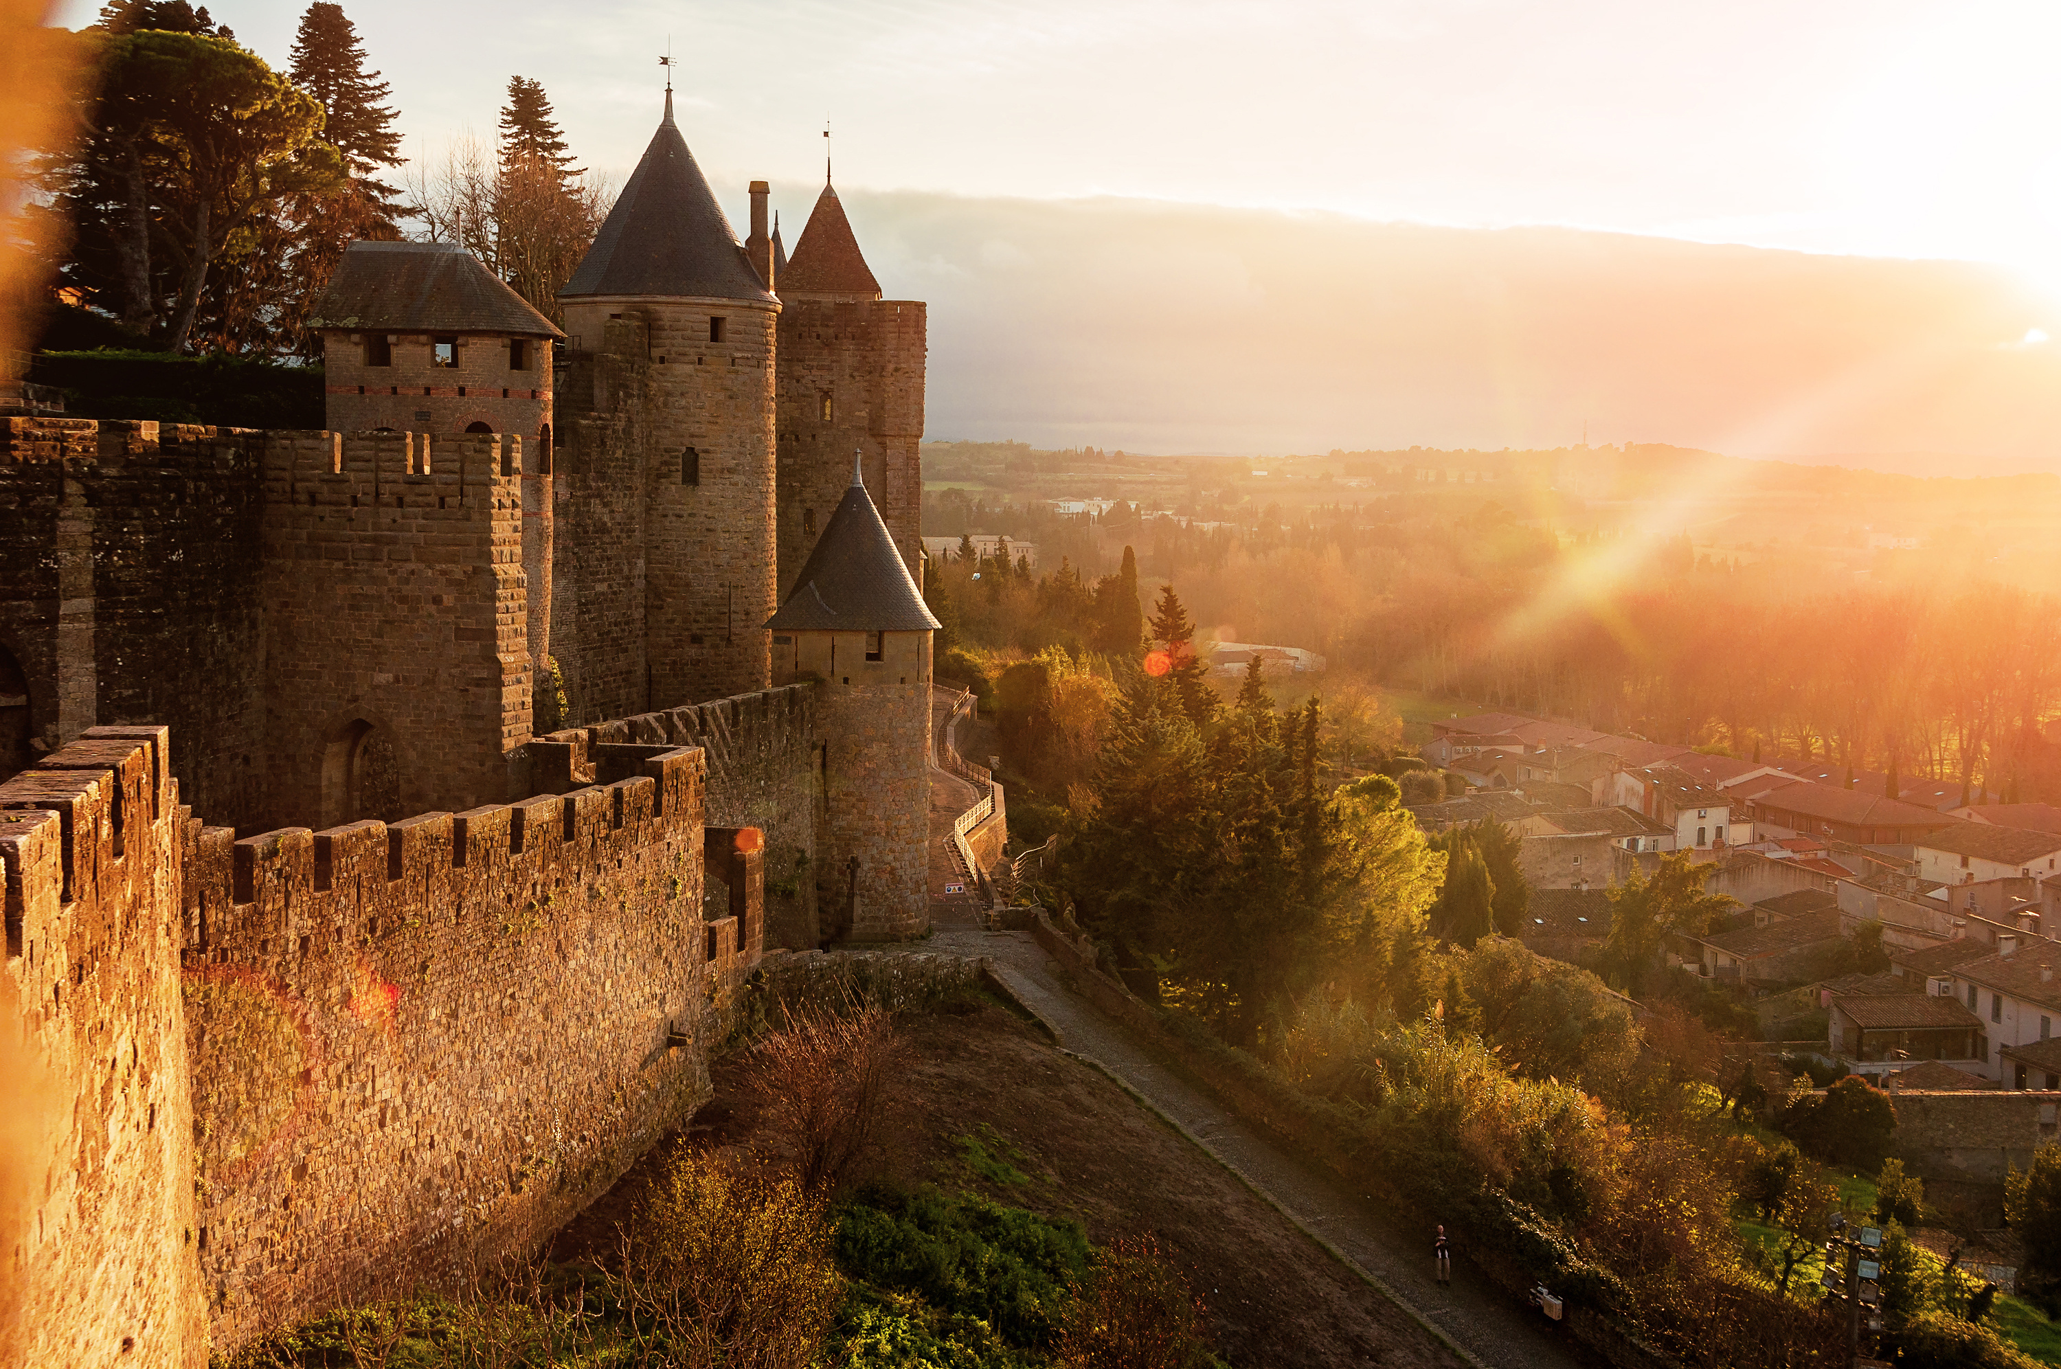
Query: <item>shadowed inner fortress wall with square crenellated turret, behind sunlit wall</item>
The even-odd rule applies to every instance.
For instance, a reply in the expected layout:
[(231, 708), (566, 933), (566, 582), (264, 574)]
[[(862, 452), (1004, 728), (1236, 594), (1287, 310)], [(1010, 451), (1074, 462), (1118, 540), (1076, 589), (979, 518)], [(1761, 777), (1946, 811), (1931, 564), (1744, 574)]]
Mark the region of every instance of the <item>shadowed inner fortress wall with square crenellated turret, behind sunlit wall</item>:
[(519, 437), (0, 421), (0, 649), (29, 738), (0, 777), (163, 722), (208, 738), (181, 792), (243, 831), (528, 794), (509, 765), (550, 542), (521, 501)]

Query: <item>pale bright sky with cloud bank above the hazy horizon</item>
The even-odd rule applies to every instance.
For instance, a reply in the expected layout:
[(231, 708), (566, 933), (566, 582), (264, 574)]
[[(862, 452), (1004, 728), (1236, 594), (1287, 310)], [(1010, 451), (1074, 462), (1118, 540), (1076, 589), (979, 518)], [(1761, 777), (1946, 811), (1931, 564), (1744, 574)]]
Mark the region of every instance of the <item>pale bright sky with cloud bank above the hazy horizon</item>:
[[(1587, 400), (1560, 394), (1550, 412), (1535, 410), (1540, 394), (1573, 383), (1556, 379), (1550, 357), (1531, 359), (1540, 369), (1535, 386), (1490, 404), (1513, 410), (1502, 419), (1484, 421), (1480, 406), (1465, 402), (1480, 375), (1511, 371), (1509, 357), (1496, 353), (1509, 338), (1498, 342), (1490, 334), (1451, 340), (1449, 353), (1465, 373), (1426, 381), (1432, 398), (1443, 400), (1348, 425), (1352, 431), (1336, 431), (1336, 441), (1321, 443), (1317, 429), (1342, 423), (1344, 410), (1317, 402), (1315, 416), (1305, 416), (1313, 400), (1323, 400), (1307, 383), (1292, 386), (1292, 394), (1276, 392), (1272, 404), (1253, 396), (1228, 427), (1167, 416), (1148, 423), (1125, 419), (1107, 402), (1080, 404), (1066, 390), (1039, 390), (1070, 375), (1070, 361), (1078, 361), (1061, 355), (1068, 348), (1053, 338), (1014, 390), (1022, 400), (1016, 408), (1030, 410), (1018, 414), (993, 402), (995, 394), (1010, 394), (1008, 375), (965, 355), (940, 355), (946, 342), (1022, 361), (1028, 346), (1022, 320), (993, 311), (1037, 309), (1068, 297), (1082, 330), (1119, 328), (1131, 338), (1131, 353), (1111, 355), (1111, 365), (1136, 369), (1152, 359), (1152, 348), (1179, 353), (1187, 338), (1140, 332), (1131, 318), (1164, 307), (1167, 289), (1181, 289), (1183, 282), (1162, 280), (1169, 260), (1214, 260), (1216, 274), (1185, 282), (1187, 301), (1200, 295), (1204, 315), (1214, 307), (1245, 309), (1247, 324), (1257, 328), (1253, 338), (1292, 342), (1313, 311), (1329, 315), (1323, 338), (1360, 336), (1364, 328), (1331, 326), (1344, 324), (1336, 315), (1348, 305), (1323, 293), (1274, 297), (1255, 315), (1255, 301), (1241, 291), (1272, 289), (1261, 278), (1278, 274), (1265, 262), (1274, 252), (1298, 252), (1298, 243), (1315, 239), (1377, 252), (1406, 227), (1472, 231), (1451, 235), (1453, 243), (1478, 247), (1474, 266), (1449, 262), (1449, 285), (1463, 293), (1486, 289), (1484, 270), (1511, 268), (1511, 239), (1496, 231), (1544, 227), (1608, 235), (1595, 245), (1612, 252), (1630, 249), (1624, 237), (1630, 235), (1913, 262), (1902, 274), (1882, 274), (1896, 299), (1931, 299), (1927, 282), (1944, 278), (1935, 262), (1995, 266), (2001, 272), (1954, 276), (1981, 297), (1966, 301), (1962, 313), (1995, 315), (1999, 326), (2009, 315), (2014, 328), (2024, 326), (2009, 336), (1972, 340), (1970, 334), (1968, 346), (1995, 353), (1987, 357), (1993, 365), (1974, 367), (1983, 379), (1970, 396), (2009, 400), (2020, 392), (1999, 375), (2018, 377), (2014, 383), (2030, 386), (2020, 398), (2045, 412), (2049, 396), (2040, 386), (2055, 379), (2051, 369), (2028, 369), (2024, 357), (2045, 348), (2047, 334), (2061, 336), (2061, 307), (2051, 303), (2061, 293), (2061, 80), (2053, 78), (2061, 6), (2051, 2), (344, 0), (344, 6), (373, 64), (394, 85), (410, 155), (433, 155), (466, 130), (491, 134), (507, 78), (526, 74), (544, 82), (573, 151), (620, 183), (655, 124), (664, 82), (657, 56), (670, 41), (682, 130), (734, 219), (742, 219), (744, 181), (767, 177), (787, 223), (806, 214), (820, 186), (829, 124), (837, 183), (853, 206), (876, 274), (888, 295), (932, 303), (932, 435), (1057, 441), (1066, 431), (1103, 423), (1129, 425), (1138, 445), (1284, 449), (1358, 447), (1410, 433), (1426, 445), (1486, 445), (1498, 435), (1515, 445), (1564, 429), (1562, 410), (1585, 408)], [(68, 0), (58, 16), (76, 25), (95, 8), (95, 0)], [(286, 60), (301, 8), (297, 0), (210, 6), (276, 64)], [(859, 206), (874, 214), (872, 223)], [(1245, 210), (1263, 212), (1255, 219)], [(1109, 278), (1096, 264), (1101, 256), (1041, 252), (1037, 233), (1086, 221), (1109, 233), (1156, 235), (1138, 237), (1129, 252), (1146, 280)], [(983, 237), (971, 241), (969, 233)], [(1066, 233), (1053, 241), (1059, 239), (1076, 241)], [(909, 256), (917, 249), (927, 256)], [(1125, 256), (1115, 243), (1094, 249)], [(1465, 247), (1455, 252), (1467, 256)], [(1224, 254), (1237, 260), (1226, 262)], [(1725, 289), (1735, 291), (1739, 282), (1727, 276), (1729, 268), (1711, 266), (1721, 258), (1665, 260), (1686, 285), (1707, 276), (1711, 289), (1729, 280)], [(1653, 260), (1641, 260), (1653, 268)], [(1573, 258), (1556, 247), (1540, 258), (1542, 266), (1550, 262)], [(985, 268), (1020, 276), (1026, 264), (1035, 266), (1035, 282), (1016, 293), (960, 274)], [(1795, 264), (1762, 274), (1816, 285), (1845, 278), (1838, 260), (1818, 266), (1822, 280)], [(1350, 295), (1375, 289), (1397, 268), (1333, 262), (1327, 280), (1329, 289), (1350, 287)], [(1564, 301), (1564, 282), (1548, 287), (1538, 270), (1519, 276), (1535, 278), (1540, 299)], [(1573, 278), (1597, 280), (1585, 270)], [(1608, 278), (1606, 270), (1601, 280)], [(1890, 280), (1908, 280), (1908, 289), (1892, 289)], [(1768, 289), (1775, 293), (1762, 303), (1777, 315), (1816, 299), (1803, 291), (1785, 305), (1781, 291)], [(1680, 303), (1674, 287), (1665, 293)], [(1690, 313), (1727, 313), (1723, 299), (1702, 303), (1707, 309)], [(1406, 330), (1437, 328), (1439, 303), (1422, 305), (1428, 313), (1393, 322)], [(1641, 303), (1622, 291), (1610, 305), (1616, 313), (1606, 318), (1601, 307), (1583, 309), (1585, 330), (1614, 326), (1620, 334), (1643, 334), (1669, 326), (1667, 318), (1641, 313)], [(1469, 315), (1469, 305), (1461, 299), (1455, 311)], [(1925, 359), (1911, 355), (1915, 344), (1904, 334), (1923, 332), (1931, 318), (1923, 307), (1894, 320), (1880, 309), (1863, 313), (1888, 332), (1873, 353), (1867, 338), (1845, 338), (1845, 350), (1820, 359), (1832, 394), (1799, 400), (1735, 392), (1735, 404), (1754, 414), (1719, 423), (1684, 410), (1680, 431), (1671, 433), (1647, 431), (1671, 421), (1655, 404), (1620, 404), (1618, 412), (1589, 414), (1601, 429), (1597, 439), (1760, 443), (1758, 452), (1742, 454), (1807, 441), (1814, 452), (1939, 449), (2061, 468), (2061, 431), (2036, 425), (2028, 431), (2026, 423), (1968, 431), (1972, 398), (1933, 410), (1952, 414), (1946, 427), (1927, 421), (1886, 431), (1880, 414), (1797, 423), (1797, 404), (1816, 406), (1820, 419), (1865, 410), (1867, 402), (1855, 396), (1882, 390), (1886, 375), (1900, 373), (1904, 383), (1919, 373), (1968, 375), (1966, 359), (1927, 371)], [(1474, 318), (1482, 318), (1478, 309)], [(1136, 355), (1140, 346), (1144, 357)], [(1387, 355), (1381, 346), (1364, 353), (1371, 363), (1381, 355)], [(1597, 353), (1585, 365), (1626, 361), (1636, 357)], [(1713, 408), (1733, 379), (1729, 353), (1719, 361), (1719, 371), (1704, 377), (1698, 412)], [(1737, 365), (1758, 373), (1748, 359)], [(1210, 408), (1226, 383), (1237, 388), (1237, 371), (1224, 361), (1204, 369), (1179, 392), (1138, 396), (1134, 408), (1171, 412), (1193, 398)], [(1156, 375), (1158, 367), (1146, 371)], [(1873, 375), (1857, 379), (1857, 371)], [(1006, 419), (1018, 431), (993, 431)], [(940, 423), (952, 431), (942, 433)]]

